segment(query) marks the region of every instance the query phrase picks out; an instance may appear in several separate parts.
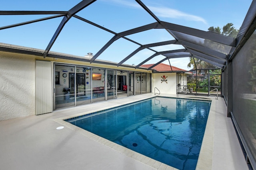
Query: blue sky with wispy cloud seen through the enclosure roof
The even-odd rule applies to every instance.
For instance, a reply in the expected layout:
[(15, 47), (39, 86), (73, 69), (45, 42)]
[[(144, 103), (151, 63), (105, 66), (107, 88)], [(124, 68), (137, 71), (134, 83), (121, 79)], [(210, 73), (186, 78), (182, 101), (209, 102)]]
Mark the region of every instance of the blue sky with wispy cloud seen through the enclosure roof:
[[(223, 27), (233, 23), (239, 29), (252, 0), (141, 0), (161, 21), (208, 31), (211, 26)], [(1, 2), (0, 10), (68, 11), (80, 0), (8, 0)], [(156, 22), (135, 0), (97, 0), (76, 15), (92, 21), (116, 33)], [(0, 16), (0, 27), (49, 15)], [(46, 49), (62, 18), (40, 21), (0, 30), (0, 43)], [(95, 55), (114, 35), (88, 23), (71, 18), (62, 29), (50, 51), (84, 56)], [(151, 29), (126, 36), (142, 45), (174, 39), (164, 29)], [(97, 59), (120, 62), (136, 50), (136, 45), (126, 39), (118, 39)], [(181, 45), (152, 47), (156, 51), (183, 49)], [(139, 64), (154, 52), (144, 49), (124, 64)], [(154, 57), (145, 64), (164, 59)], [(169, 64), (168, 60), (164, 62)], [(170, 59), (172, 66), (190, 70), (188, 58)]]

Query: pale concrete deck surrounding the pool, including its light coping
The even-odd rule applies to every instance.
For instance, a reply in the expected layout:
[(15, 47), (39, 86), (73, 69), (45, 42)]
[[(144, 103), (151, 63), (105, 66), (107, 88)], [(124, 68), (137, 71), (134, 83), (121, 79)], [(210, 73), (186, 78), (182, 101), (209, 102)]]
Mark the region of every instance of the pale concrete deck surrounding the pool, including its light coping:
[[(107, 141), (63, 119), (153, 97), (143, 94), (0, 121), (0, 169), (3, 170), (175, 170)], [(175, 97), (176, 95), (158, 95)], [(179, 98), (201, 98), (180, 95)], [(198, 170), (246, 170), (248, 166), (223, 98), (212, 100)], [(64, 126), (63, 129), (56, 129)]]

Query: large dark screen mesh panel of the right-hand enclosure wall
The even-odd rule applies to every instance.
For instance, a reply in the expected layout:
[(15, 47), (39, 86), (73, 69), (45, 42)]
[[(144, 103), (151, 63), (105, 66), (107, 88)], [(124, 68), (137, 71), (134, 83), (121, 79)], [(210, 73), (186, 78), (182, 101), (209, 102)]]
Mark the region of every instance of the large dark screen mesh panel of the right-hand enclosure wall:
[(256, 160), (256, 32), (232, 60), (234, 118)]

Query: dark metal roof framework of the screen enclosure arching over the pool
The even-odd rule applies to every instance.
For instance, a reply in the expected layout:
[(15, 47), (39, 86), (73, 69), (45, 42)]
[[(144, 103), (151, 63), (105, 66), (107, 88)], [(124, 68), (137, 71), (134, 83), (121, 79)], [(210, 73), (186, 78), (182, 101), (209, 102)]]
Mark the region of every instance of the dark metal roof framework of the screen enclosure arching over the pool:
[[(62, 20), (60, 23), (58, 23), (58, 27), (55, 30), (54, 34), (52, 35), (51, 40), (48, 42), (47, 47), (44, 49), (44, 52), (42, 54), (37, 54), (37, 55), (42, 55), (43, 57), (52, 57), (52, 55), (49, 55), (49, 51), (54, 45), (54, 43), (56, 43), (62, 29), (70, 21), (71, 18), (76, 18), (80, 21), (89, 23), (90, 25), (93, 25), (94, 27), (97, 27), (113, 35), (108, 40), (108, 42), (104, 44), (101, 47), (101, 49), (90, 59), (90, 63), (96, 62), (97, 61), (96, 59), (98, 59), (98, 57), (106, 49), (108, 49), (110, 45), (112, 45), (112, 43), (114, 43), (118, 39), (125, 39), (130, 43), (134, 43), (135, 45), (137, 45), (138, 48), (132, 51), (132, 53), (130, 53), (126, 57), (122, 58), (122, 60), (116, 64), (117, 66), (124, 66), (125, 65), (124, 63), (128, 59), (130, 59), (137, 53), (141, 52), (142, 50), (148, 49), (151, 52), (150, 55), (148, 55), (148, 57), (144, 59), (144, 61), (140, 61), (139, 63), (136, 63), (135, 68), (139, 68), (142, 64), (145, 64), (150, 59), (160, 55), (163, 57), (148, 69), (151, 69), (157, 64), (162, 63), (168, 59), (181, 58), (181, 57), (194, 57), (202, 61), (206, 61), (210, 64), (213, 64), (218, 68), (224, 68), (226, 66), (226, 61), (228, 57), (230, 57), (230, 55), (232, 55), (232, 53), (236, 50), (236, 47), (239, 44), (238, 40), (241, 39), (240, 37), (242, 37), (246, 33), (248, 27), (250, 26), (250, 24), (248, 23), (251, 22), (255, 17), (255, 11), (254, 11), (255, 1), (253, 1), (251, 5), (252, 9), (251, 8), (249, 9), (245, 19), (246, 23), (243, 23), (242, 27), (240, 28), (240, 32), (238, 33), (240, 37), (237, 37), (236, 39), (234, 39), (232, 37), (212, 33), (209, 31), (202, 31), (199, 29), (191, 28), (191, 27), (186, 27), (186, 26), (177, 25), (174, 23), (161, 21), (144, 3), (142, 3), (141, 0), (136, 0), (136, 3), (138, 3), (138, 5), (141, 6), (148, 15), (150, 15), (150, 17), (154, 20), (154, 22), (140, 26), (140, 27), (128, 29), (126, 31), (114, 32), (110, 29), (105, 28), (104, 26), (98, 25), (92, 21), (87, 20), (86, 18), (79, 16), (80, 11), (88, 8), (88, 6), (92, 5), (95, 2), (96, 0), (83, 0), (68, 11), (0, 11), (0, 15), (4, 15), (4, 16), (6, 15), (51, 15), (50, 17), (46, 17), (46, 18), (40, 18), (37, 20), (30, 20), (22, 23), (2, 26), (0, 27), (0, 30), (32, 24), (38, 21), (61, 18)], [(132, 38), (129, 37), (130, 35), (136, 35), (136, 33), (142, 33), (144, 31), (148, 31), (152, 29), (161, 29), (166, 31), (166, 33), (170, 36), (168, 38), (169, 40), (156, 42), (156, 43), (141, 44), (138, 41), (134, 41)], [(160, 51), (160, 50), (154, 49), (156, 47), (160, 47), (163, 45), (180, 45), (181, 48), (169, 50), (169, 51)], [(3, 49), (0, 49), (0, 50), (3, 50)], [(72, 59), (72, 57), (70, 59)]]

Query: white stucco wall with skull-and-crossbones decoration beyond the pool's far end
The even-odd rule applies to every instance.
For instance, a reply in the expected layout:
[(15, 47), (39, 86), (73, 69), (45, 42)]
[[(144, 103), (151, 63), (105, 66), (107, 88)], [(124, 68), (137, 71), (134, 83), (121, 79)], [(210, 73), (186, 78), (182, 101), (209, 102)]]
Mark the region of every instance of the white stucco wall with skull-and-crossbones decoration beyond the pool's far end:
[[(166, 82), (162, 82), (162, 77), (165, 76)], [(176, 94), (176, 73), (154, 73), (152, 74), (152, 92), (154, 93), (154, 88), (158, 88), (161, 94)], [(157, 91), (156, 91), (157, 92)]]

